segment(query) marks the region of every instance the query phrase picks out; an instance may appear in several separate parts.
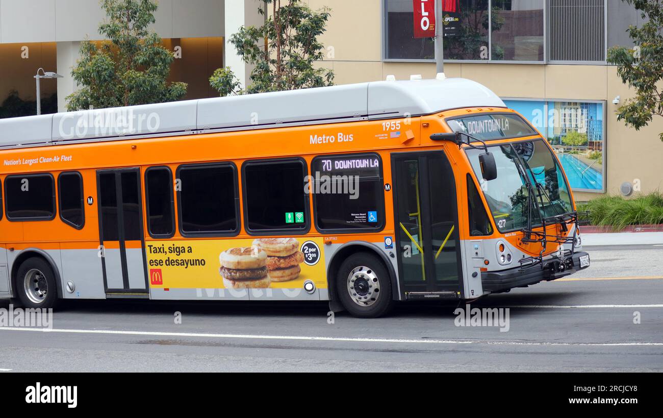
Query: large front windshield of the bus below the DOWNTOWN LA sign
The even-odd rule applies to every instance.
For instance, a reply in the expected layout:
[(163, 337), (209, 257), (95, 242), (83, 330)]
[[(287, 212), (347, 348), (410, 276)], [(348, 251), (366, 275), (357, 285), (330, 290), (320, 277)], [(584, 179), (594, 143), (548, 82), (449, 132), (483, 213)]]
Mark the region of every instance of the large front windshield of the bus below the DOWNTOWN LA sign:
[(483, 150), (466, 153), (500, 232), (522, 230), (542, 218), (573, 211), (562, 169), (542, 139), (495, 145), (489, 151), (497, 165), (497, 178), (490, 181), (481, 176)]

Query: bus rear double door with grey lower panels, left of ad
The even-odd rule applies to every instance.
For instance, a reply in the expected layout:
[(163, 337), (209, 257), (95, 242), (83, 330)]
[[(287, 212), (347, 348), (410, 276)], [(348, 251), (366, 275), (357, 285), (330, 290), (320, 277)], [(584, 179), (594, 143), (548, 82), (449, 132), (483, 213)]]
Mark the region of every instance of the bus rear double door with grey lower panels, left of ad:
[(147, 297), (139, 169), (97, 171), (97, 200), (107, 296)]

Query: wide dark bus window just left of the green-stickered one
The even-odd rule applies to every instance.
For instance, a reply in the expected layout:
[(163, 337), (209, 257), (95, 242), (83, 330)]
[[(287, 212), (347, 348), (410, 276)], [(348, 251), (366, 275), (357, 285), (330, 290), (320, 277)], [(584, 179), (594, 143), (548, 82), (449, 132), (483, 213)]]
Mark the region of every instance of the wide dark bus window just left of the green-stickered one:
[(229, 163), (178, 167), (178, 208), (183, 236), (239, 232), (237, 169)]

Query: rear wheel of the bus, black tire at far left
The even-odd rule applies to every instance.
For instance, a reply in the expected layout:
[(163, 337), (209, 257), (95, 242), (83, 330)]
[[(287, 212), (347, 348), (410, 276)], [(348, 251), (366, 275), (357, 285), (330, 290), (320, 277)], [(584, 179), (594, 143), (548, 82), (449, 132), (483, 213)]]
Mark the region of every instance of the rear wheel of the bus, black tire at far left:
[(14, 294), (23, 307), (48, 309), (58, 303), (55, 274), (50, 264), (41, 257), (32, 257), (21, 263), (14, 285)]

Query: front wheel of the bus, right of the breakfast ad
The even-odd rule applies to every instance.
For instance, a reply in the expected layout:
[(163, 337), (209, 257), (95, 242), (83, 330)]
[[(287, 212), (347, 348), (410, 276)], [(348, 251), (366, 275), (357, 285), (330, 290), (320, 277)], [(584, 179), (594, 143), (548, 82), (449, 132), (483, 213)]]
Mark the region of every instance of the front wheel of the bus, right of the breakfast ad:
[(336, 277), (336, 294), (343, 307), (357, 318), (378, 318), (394, 305), (389, 271), (371, 253), (354, 253), (343, 260)]

